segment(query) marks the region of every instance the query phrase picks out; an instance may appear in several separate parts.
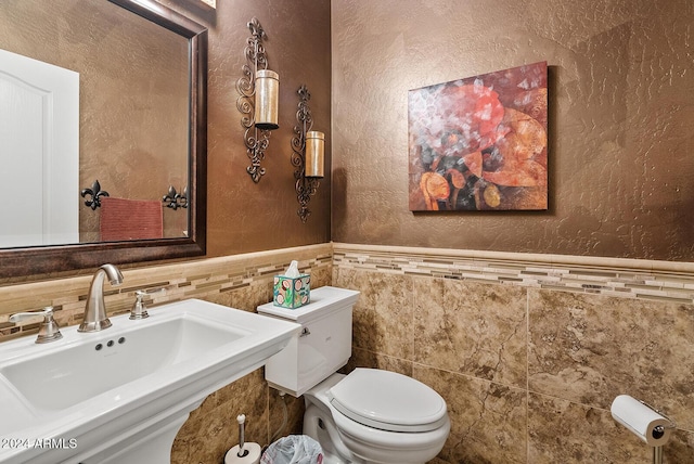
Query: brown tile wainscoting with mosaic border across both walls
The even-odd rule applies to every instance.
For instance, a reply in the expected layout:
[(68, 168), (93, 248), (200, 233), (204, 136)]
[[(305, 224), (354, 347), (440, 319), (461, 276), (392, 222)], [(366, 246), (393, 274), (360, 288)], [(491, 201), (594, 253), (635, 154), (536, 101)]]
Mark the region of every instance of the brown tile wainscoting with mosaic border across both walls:
[[(412, 375), (449, 404), (439, 463), (650, 462), (651, 450), (609, 414), (629, 394), (678, 429), (665, 462), (694, 462), (694, 265), (436, 248), (320, 244), (125, 270), (110, 313), (134, 292), (151, 306), (201, 298), (253, 311), (292, 259), (312, 286), (358, 289), (354, 366)], [(0, 286), (0, 340), (31, 336), (11, 313), (52, 305), (80, 322), (91, 275)], [(219, 463), (236, 442), (267, 444), (283, 422), (300, 433), (303, 402), (283, 399), (258, 370), (210, 395), (179, 433), (172, 463)]]

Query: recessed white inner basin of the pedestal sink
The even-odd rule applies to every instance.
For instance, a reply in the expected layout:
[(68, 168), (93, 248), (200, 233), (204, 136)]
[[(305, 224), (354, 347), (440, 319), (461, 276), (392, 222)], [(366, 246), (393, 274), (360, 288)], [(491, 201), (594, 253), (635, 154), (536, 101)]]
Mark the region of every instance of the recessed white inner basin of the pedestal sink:
[(17, 359), (0, 368), (0, 375), (30, 408), (63, 410), (249, 335), (194, 313), (152, 322), (158, 323), (129, 324), (90, 344)]

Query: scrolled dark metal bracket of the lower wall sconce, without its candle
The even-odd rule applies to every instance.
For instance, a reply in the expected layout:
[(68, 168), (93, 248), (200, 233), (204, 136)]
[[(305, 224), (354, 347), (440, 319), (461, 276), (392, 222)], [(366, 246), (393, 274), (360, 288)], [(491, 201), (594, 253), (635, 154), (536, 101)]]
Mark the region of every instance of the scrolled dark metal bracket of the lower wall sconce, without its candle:
[(296, 198), (299, 202), (299, 209), (297, 209), (296, 214), (301, 219), (301, 222), (306, 222), (311, 214), (310, 209), (308, 209), (308, 203), (311, 196), (316, 195), (320, 182), (317, 178), (306, 177), (306, 133), (313, 127), (311, 108), (308, 106), (311, 94), (306, 86), (301, 86), (297, 93), (299, 95), (299, 104), (296, 112), (298, 126), (294, 126), (295, 136), (292, 138), (292, 166), (296, 168), (294, 178), (296, 179)]

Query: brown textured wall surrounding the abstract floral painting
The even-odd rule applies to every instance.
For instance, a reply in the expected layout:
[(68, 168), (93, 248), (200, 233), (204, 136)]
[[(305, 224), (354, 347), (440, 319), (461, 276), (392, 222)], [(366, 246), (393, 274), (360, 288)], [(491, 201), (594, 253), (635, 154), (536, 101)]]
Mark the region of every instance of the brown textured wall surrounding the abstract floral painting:
[[(694, 260), (689, 0), (333, 0), (336, 242)], [(408, 210), (408, 90), (547, 61), (540, 212)]]

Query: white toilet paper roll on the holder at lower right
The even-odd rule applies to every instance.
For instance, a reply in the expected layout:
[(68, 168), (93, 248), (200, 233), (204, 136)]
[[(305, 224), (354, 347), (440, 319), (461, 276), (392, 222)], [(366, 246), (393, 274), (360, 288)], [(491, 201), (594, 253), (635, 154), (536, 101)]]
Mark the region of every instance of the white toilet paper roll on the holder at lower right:
[[(612, 402), (612, 416), (651, 447), (660, 447), (670, 438), (671, 422), (629, 395)], [(658, 431), (657, 426), (663, 430)]]

